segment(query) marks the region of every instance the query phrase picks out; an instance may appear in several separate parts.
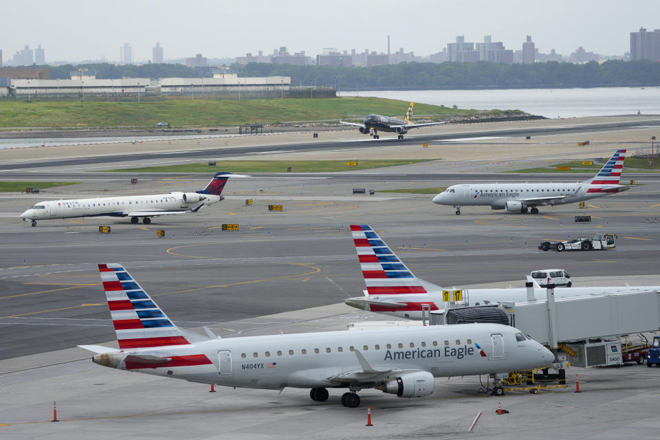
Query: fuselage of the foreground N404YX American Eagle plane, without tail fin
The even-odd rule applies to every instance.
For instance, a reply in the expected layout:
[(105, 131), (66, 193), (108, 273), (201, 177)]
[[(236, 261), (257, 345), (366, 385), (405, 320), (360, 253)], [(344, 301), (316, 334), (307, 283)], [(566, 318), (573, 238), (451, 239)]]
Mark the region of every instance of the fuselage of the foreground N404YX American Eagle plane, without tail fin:
[[(527, 370), (554, 359), (550, 351), (514, 327), (464, 324), (226, 338), (104, 353), (94, 356), (94, 362), (225, 386), (342, 387), (347, 384), (330, 378), (362, 371), (354, 351), (377, 370), (428, 371), (434, 377)], [(131, 353), (172, 360), (126, 365), (126, 355)]]

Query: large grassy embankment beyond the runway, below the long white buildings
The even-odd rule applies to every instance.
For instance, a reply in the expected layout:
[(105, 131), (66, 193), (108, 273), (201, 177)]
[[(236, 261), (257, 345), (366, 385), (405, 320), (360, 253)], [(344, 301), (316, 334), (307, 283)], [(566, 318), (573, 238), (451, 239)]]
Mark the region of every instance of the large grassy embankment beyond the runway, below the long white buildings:
[[(329, 99), (270, 100), (183, 100), (159, 102), (65, 102), (0, 101), (1, 127), (155, 127), (235, 126), (256, 122), (336, 120), (369, 113), (403, 116), (408, 102), (382, 98), (347, 97)], [(479, 113), (415, 104), (415, 113), (437, 115)]]

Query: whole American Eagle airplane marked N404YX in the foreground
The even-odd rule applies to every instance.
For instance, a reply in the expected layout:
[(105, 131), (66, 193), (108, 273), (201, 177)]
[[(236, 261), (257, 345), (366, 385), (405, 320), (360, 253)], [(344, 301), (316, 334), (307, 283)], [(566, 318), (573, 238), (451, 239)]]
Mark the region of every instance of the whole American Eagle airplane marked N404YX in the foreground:
[(311, 388), (315, 401), (328, 399), (327, 388), (348, 388), (342, 404), (355, 408), (364, 388), (424, 397), (433, 393), (434, 377), (522, 371), (555, 358), (518, 329), (500, 324), (222, 339), (208, 330), (203, 337), (174, 325), (122, 265), (98, 268), (120, 349), (79, 347), (113, 369), (241, 388)]

